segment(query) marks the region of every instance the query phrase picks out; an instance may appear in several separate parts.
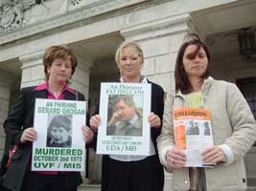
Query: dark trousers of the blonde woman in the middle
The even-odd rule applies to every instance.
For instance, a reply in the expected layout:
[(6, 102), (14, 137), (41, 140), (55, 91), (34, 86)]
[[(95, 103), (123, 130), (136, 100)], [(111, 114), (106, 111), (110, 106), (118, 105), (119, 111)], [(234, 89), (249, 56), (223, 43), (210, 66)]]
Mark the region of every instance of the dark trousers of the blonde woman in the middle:
[(104, 156), (102, 191), (162, 191), (164, 171), (158, 157), (119, 161)]

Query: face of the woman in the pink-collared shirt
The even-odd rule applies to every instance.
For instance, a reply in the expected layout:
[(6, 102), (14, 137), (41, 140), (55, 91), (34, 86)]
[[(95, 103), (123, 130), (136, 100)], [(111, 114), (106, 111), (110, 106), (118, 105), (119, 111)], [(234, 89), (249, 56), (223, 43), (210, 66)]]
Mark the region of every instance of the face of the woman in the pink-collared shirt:
[(57, 58), (52, 66), (48, 67), (49, 81), (66, 83), (72, 74), (70, 59)]

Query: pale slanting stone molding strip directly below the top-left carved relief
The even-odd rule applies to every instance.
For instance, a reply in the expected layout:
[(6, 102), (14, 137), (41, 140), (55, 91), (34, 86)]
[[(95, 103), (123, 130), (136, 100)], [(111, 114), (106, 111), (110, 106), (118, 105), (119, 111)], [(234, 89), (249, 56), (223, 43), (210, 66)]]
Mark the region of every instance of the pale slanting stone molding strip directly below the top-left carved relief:
[(95, 4), (84, 6), (82, 9), (67, 11), (66, 14), (58, 15), (44, 22), (36, 23), (35, 25), (24, 26), (19, 30), (13, 30), (11, 32), (0, 33), (0, 45), (39, 32), (53, 30), (58, 27), (72, 24), (74, 22), (81, 21), (99, 14), (115, 11), (147, 1), (151, 0), (101, 0)]

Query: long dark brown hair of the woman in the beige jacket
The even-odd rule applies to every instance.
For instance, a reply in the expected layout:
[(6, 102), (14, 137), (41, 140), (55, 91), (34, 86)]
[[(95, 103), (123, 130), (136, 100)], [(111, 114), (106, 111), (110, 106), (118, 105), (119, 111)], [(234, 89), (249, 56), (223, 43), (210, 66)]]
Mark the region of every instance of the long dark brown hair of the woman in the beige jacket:
[(207, 66), (205, 73), (202, 74), (201, 77), (206, 78), (210, 75), (209, 68), (210, 68), (211, 56), (210, 56), (210, 52), (209, 52), (208, 48), (206, 47), (206, 45), (198, 39), (194, 39), (194, 40), (187, 41), (187, 42), (183, 43), (181, 45), (181, 47), (179, 48), (179, 51), (178, 51), (177, 57), (176, 57), (176, 63), (175, 63), (175, 92), (180, 91), (182, 94), (188, 94), (192, 90), (192, 85), (189, 81), (189, 78), (188, 78), (188, 76), (185, 72), (184, 66), (183, 66), (184, 53), (185, 53), (187, 47), (190, 45), (197, 46), (197, 50), (193, 53), (192, 58), (195, 58), (197, 56), (200, 48), (202, 48), (205, 51), (206, 56), (208, 58), (208, 66)]

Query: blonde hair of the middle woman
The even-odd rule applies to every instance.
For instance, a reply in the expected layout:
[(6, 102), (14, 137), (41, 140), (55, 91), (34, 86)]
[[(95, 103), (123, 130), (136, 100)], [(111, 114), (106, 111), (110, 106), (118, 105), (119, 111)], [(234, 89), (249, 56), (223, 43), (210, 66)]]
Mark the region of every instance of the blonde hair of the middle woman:
[(140, 45), (137, 44), (136, 42), (123, 42), (120, 45), (120, 47), (116, 51), (116, 55), (115, 55), (115, 61), (117, 64), (119, 64), (119, 60), (120, 60), (120, 57), (121, 57), (124, 49), (128, 49), (128, 53), (130, 53), (130, 54), (138, 53), (140, 60), (141, 60), (141, 64), (143, 65), (144, 55), (143, 55)]

